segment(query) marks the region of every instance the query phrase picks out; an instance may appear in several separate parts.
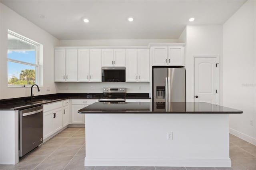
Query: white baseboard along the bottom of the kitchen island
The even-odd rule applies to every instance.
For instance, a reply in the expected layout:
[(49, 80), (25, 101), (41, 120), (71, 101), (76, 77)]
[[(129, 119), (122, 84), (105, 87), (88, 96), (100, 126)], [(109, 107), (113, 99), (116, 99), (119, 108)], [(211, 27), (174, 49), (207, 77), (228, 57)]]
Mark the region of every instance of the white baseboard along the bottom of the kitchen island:
[(84, 159), (84, 166), (231, 167), (228, 159)]

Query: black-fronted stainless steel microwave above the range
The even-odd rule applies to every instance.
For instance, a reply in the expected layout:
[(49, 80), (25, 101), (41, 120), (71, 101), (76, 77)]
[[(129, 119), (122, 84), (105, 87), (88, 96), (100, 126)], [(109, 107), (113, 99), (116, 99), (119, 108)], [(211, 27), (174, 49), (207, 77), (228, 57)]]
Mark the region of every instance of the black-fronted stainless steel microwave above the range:
[(125, 67), (102, 67), (102, 82), (125, 82)]

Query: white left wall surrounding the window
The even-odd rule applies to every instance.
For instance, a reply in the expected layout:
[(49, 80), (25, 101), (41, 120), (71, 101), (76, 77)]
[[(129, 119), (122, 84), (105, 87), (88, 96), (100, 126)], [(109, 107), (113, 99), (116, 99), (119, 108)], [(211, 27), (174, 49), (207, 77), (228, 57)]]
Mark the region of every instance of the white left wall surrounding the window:
[[(40, 18), (38, 18), (39, 20)], [(1, 4), (1, 95), (0, 99), (30, 96), (30, 88), (8, 88), (7, 83), (7, 29), (44, 45), (44, 87), (35, 95), (56, 93), (54, 85), (54, 46), (59, 40), (26, 18)], [(46, 91), (50, 87), (50, 91)]]

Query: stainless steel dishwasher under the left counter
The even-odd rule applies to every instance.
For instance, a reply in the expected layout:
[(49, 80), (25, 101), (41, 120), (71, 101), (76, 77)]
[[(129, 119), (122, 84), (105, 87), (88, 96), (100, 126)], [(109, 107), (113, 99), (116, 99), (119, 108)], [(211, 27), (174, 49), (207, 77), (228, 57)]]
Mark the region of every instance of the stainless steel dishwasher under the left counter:
[(19, 111), (19, 156), (24, 156), (43, 142), (43, 106)]

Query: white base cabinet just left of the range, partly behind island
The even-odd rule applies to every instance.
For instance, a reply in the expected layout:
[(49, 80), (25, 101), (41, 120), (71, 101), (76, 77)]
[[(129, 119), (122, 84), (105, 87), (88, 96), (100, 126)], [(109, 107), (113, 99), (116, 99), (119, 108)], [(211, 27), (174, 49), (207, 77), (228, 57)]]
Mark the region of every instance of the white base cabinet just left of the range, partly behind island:
[(78, 110), (98, 102), (98, 99), (72, 99), (72, 124), (84, 124), (84, 114)]

